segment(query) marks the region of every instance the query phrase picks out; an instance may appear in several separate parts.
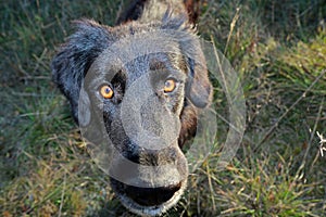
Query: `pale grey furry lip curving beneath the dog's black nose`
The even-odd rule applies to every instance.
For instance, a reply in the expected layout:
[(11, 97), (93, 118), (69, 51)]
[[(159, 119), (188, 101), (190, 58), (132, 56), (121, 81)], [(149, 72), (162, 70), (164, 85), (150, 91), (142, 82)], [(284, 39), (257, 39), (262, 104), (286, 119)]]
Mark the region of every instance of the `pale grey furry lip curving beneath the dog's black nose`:
[(122, 204), (127, 206), (133, 213), (138, 214), (140, 216), (158, 216), (165, 213), (170, 207), (172, 207), (179, 201), (185, 189), (187, 188), (187, 179), (181, 180), (179, 184), (180, 188), (174, 193), (174, 195), (168, 201), (151, 206), (146, 206), (137, 203), (133, 199), (128, 197), (126, 193), (124, 191), (121, 191), (120, 189), (115, 189), (115, 193), (122, 202)]

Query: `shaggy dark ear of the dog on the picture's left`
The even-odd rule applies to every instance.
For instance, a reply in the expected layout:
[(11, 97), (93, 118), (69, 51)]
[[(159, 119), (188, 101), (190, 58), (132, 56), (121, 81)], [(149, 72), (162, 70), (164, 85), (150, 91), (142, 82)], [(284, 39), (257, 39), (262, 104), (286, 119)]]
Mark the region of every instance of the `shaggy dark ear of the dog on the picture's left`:
[(52, 60), (51, 68), (53, 81), (68, 99), (75, 120), (78, 123), (78, 114), (83, 114), (79, 124), (85, 125), (90, 119), (90, 107), (87, 103), (89, 99), (86, 99), (88, 95), (85, 95), (80, 99), (83, 111), (78, 112), (80, 87), (90, 65), (113, 42), (113, 37), (109, 27), (95, 21), (82, 20), (74, 24), (76, 31), (60, 48)]

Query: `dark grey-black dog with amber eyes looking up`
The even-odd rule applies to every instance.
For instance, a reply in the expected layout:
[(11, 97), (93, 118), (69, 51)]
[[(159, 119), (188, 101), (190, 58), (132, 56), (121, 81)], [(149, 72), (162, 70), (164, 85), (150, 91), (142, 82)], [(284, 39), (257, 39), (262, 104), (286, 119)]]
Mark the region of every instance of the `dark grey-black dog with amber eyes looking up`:
[(161, 215), (183, 195), (183, 150), (212, 101), (197, 3), (137, 0), (114, 27), (76, 21), (51, 63), (91, 156), (138, 215)]

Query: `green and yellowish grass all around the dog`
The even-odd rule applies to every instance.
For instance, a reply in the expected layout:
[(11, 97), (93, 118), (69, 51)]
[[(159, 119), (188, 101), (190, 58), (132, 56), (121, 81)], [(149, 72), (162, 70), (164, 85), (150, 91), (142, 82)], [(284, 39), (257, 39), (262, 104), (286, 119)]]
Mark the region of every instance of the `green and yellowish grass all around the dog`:
[[(0, 215), (131, 216), (87, 154), (50, 60), (71, 21), (112, 25), (117, 1), (0, 3)], [(241, 77), (247, 128), (224, 170), (212, 153), (190, 175), (166, 216), (324, 216), (326, 4), (313, 1), (205, 1), (201, 37), (214, 39)], [(231, 25), (233, 24), (233, 25)], [(221, 116), (227, 103), (215, 84)], [(217, 145), (228, 126), (218, 119)]]

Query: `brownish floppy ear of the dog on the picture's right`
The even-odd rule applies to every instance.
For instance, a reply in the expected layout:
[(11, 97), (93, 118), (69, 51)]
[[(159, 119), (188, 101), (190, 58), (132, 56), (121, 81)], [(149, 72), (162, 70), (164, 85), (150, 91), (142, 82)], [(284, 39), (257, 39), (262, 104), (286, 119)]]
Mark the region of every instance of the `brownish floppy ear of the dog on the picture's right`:
[(186, 97), (197, 107), (205, 107), (212, 100), (213, 88), (209, 79), (208, 67), (200, 41), (192, 25), (185, 17), (163, 18), (163, 29), (167, 29), (175, 41), (178, 41), (185, 58), (188, 80)]

